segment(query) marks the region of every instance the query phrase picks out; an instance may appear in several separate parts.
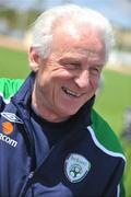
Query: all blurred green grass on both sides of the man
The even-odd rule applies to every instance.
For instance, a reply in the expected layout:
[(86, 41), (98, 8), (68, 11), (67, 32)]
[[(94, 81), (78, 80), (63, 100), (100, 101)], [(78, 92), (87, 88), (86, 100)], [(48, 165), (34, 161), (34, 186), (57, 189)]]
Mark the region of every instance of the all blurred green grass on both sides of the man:
[[(0, 48), (0, 77), (25, 78), (29, 72), (27, 55)], [(95, 108), (120, 137), (123, 129), (123, 113), (131, 106), (131, 76), (104, 70), (104, 88), (96, 99)], [(127, 155), (126, 190), (131, 196), (131, 144), (121, 139)]]

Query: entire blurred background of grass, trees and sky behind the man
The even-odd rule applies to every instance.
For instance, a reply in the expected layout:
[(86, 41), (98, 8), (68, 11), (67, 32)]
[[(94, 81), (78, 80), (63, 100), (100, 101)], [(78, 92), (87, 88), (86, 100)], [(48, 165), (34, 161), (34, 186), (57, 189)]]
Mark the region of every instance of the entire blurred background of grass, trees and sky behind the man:
[(95, 108), (110, 124), (127, 157), (124, 186), (131, 196), (131, 0), (0, 0), (0, 78), (28, 72), (32, 24), (48, 8), (75, 3), (95, 9), (114, 26), (116, 44), (103, 71)]

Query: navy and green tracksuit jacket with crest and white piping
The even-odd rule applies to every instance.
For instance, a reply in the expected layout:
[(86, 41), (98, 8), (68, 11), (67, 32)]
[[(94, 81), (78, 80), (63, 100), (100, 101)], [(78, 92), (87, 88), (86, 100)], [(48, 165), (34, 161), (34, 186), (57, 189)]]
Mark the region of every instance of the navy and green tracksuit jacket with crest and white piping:
[(0, 197), (124, 196), (126, 158), (94, 97), (68, 123), (52, 124), (64, 135), (49, 146), (48, 127), (31, 113), (34, 79), (0, 80)]

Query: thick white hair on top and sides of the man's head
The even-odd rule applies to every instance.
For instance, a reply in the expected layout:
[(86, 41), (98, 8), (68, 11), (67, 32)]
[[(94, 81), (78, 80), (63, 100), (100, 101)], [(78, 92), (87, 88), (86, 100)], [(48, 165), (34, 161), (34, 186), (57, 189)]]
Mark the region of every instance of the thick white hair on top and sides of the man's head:
[(106, 60), (108, 59), (114, 43), (109, 21), (97, 11), (75, 4), (53, 7), (41, 13), (34, 23), (31, 45), (43, 59), (46, 59), (51, 50), (53, 27), (61, 20), (73, 20), (73, 24), (91, 25), (99, 30), (105, 42)]

